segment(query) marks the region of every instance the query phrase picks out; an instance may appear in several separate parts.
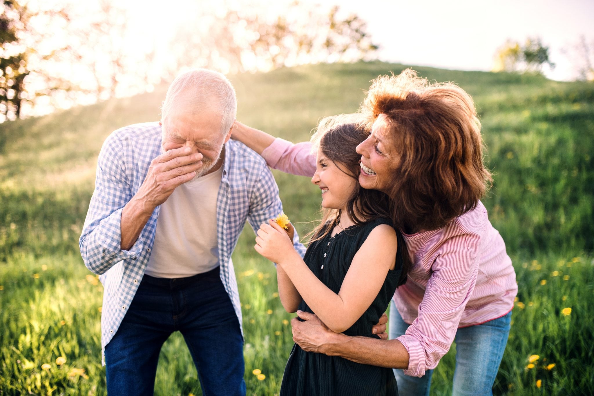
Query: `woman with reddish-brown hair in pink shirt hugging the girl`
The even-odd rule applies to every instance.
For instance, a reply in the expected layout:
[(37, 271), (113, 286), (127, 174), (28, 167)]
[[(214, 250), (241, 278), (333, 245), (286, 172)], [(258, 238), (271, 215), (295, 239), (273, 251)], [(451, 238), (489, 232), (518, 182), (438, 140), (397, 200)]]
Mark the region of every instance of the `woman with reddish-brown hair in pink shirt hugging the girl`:
[[(407, 69), (374, 80), (361, 115), (371, 133), (356, 147), (359, 182), (392, 199), (413, 267), (394, 294), (390, 340), (336, 334), (308, 313), (299, 313), (304, 322), (293, 319), (293, 338), (307, 351), (394, 368), (404, 395), (429, 394), (432, 370), (455, 340), (454, 395), (492, 394), (517, 284), (479, 201), (491, 175), (472, 99)], [(315, 171), (307, 142), (274, 139), (241, 123), (233, 137), (275, 169)]]

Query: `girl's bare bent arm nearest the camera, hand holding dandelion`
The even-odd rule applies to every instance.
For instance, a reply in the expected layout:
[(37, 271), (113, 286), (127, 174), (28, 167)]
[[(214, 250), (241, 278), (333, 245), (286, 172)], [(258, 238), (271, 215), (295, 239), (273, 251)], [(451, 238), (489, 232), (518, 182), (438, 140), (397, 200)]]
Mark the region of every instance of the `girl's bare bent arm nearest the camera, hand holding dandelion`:
[(396, 232), (381, 224), (355, 254), (336, 294), (309, 270), (276, 223), (263, 224), (256, 241), (258, 253), (282, 267), (309, 308), (334, 332), (347, 330), (363, 315), (396, 262)]

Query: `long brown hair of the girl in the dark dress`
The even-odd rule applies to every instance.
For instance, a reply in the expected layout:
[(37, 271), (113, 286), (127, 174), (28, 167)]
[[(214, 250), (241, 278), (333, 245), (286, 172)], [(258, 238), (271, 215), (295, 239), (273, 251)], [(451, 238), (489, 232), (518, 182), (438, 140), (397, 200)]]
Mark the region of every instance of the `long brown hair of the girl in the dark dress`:
[[(360, 120), (359, 120), (360, 121)], [(350, 220), (359, 225), (376, 218), (394, 217), (394, 204), (387, 194), (377, 190), (362, 188), (359, 185), (359, 160), (361, 156), (356, 153), (355, 148), (364, 141), (368, 132), (358, 122), (356, 115), (342, 115), (323, 119), (318, 125), (317, 132), (312, 136), (312, 150), (321, 150), (324, 156), (332, 161), (338, 169), (356, 180), (356, 187), (346, 204), (346, 214)], [(320, 240), (336, 226), (342, 216), (342, 210), (326, 209), (321, 210), (322, 218), (320, 224), (309, 233), (309, 243)], [(406, 274), (411, 267), (406, 243), (400, 233), (398, 238), (398, 249), (404, 260), (402, 273), (400, 274), (399, 286), (406, 282)]]

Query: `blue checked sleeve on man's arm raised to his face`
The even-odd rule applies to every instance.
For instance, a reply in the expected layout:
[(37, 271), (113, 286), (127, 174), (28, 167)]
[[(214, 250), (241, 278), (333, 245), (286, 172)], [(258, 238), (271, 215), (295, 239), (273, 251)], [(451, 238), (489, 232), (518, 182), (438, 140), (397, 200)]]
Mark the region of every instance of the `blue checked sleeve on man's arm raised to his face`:
[(84, 264), (95, 274), (103, 274), (124, 259), (136, 259), (142, 249), (141, 238), (130, 250), (121, 249), (122, 209), (132, 198), (122, 142), (110, 135), (97, 160), (95, 189), (78, 241)]

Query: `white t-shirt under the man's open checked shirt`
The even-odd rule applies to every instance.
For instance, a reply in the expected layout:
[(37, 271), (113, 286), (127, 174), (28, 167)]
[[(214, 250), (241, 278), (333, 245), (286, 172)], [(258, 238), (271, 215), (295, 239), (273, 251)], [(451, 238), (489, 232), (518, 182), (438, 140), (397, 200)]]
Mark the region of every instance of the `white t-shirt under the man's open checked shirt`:
[(161, 204), (146, 274), (184, 278), (219, 265), (217, 194), (223, 167), (178, 186)]

